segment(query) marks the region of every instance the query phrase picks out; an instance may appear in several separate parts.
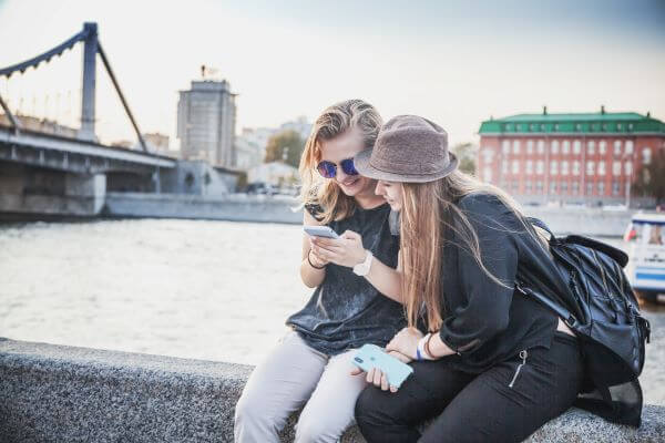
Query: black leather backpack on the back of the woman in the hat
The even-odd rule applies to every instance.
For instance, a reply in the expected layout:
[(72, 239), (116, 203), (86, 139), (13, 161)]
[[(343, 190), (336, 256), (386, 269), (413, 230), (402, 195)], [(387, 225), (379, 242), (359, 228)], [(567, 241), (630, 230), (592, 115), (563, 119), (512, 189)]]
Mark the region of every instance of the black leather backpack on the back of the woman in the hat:
[(520, 275), (515, 288), (556, 312), (580, 339), (586, 380), (576, 405), (638, 426), (642, 389), (637, 377), (651, 328), (622, 269), (628, 256), (587, 237), (556, 237), (539, 219), (528, 222), (550, 234), (550, 251), (567, 293), (554, 295), (538, 279)]

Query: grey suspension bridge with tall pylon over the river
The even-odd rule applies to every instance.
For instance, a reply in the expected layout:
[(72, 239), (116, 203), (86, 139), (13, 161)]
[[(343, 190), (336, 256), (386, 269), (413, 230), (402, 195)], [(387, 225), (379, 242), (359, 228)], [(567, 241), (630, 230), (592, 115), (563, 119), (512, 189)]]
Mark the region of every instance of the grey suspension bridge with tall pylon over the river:
[[(23, 127), (0, 94), (0, 215), (94, 216), (110, 192), (196, 193), (215, 169), (147, 151), (143, 135), (104, 52), (96, 23), (34, 58), (1, 68), (0, 78), (39, 69), (76, 44), (83, 45), (81, 123), (75, 134), (50, 134)], [(99, 143), (95, 134), (98, 56), (120, 97), (140, 150)]]

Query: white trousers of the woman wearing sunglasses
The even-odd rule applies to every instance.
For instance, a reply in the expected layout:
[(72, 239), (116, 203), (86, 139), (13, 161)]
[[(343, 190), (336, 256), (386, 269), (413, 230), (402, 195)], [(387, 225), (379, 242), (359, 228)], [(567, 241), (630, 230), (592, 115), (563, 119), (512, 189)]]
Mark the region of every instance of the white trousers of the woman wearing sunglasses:
[(286, 420), (305, 404), (296, 442), (337, 442), (355, 423), (356, 400), (366, 387), (351, 375), (355, 350), (328, 357), (289, 330), (256, 367), (235, 410), (236, 443), (279, 442)]

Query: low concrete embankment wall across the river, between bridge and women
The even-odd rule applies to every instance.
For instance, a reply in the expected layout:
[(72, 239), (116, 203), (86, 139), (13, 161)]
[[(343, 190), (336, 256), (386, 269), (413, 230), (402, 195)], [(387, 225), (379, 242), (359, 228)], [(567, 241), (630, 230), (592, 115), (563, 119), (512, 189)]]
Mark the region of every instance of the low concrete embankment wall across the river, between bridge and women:
[(296, 200), (282, 196), (223, 197), (176, 194), (106, 193), (104, 215), (110, 217), (207, 218), (232, 222), (303, 223), (293, 212)]

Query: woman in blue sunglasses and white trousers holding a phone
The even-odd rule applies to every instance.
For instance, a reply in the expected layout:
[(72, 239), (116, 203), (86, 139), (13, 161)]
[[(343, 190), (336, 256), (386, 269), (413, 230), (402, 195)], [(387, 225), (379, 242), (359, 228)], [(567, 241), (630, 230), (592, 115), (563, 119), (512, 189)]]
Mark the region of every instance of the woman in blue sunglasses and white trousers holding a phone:
[(406, 326), (401, 305), (390, 299), (399, 286), (390, 206), (352, 161), (374, 146), (380, 126), (378, 112), (360, 100), (328, 107), (314, 124), (300, 159), (304, 224), (327, 225), (341, 238), (304, 235), (300, 277), (316, 289), (247, 381), (236, 405), (236, 442), (278, 442), (303, 406), (295, 441), (337, 442), (366, 387), (350, 375), (354, 350), (386, 346)]

